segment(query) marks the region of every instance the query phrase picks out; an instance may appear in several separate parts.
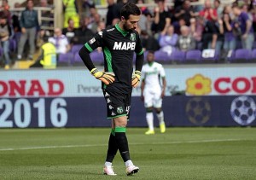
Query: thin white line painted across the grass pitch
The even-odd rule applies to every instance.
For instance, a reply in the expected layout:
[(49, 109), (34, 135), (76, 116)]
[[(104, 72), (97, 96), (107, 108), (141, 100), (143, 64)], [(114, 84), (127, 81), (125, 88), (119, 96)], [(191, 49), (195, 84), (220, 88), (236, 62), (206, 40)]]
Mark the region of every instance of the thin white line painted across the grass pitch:
[[(236, 141), (252, 141), (251, 139), (209, 139), (197, 141), (184, 141), (184, 142), (152, 142), (152, 143), (130, 143), (130, 145), (152, 145), (152, 144), (181, 144), (181, 143), (202, 143), (202, 142), (236, 142)], [(26, 148), (0, 148), (0, 151), (15, 151), (15, 150), (32, 150), (44, 148), (88, 148), (88, 147), (102, 147), (107, 144), (84, 144), (84, 145), (65, 145), (65, 146), (37, 146)]]

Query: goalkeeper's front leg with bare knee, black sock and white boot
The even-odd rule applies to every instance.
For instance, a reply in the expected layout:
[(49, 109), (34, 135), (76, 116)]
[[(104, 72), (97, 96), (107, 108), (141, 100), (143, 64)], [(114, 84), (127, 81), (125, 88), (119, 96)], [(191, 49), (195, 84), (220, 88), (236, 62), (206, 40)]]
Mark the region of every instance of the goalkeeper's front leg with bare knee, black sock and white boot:
[(114, 118), (113, 120), (115, 123), (115, 141), (119, 148), (119, 153), (121, 154), (122, 159), (125, 162), (126, 174), (130, 176), (134, 173), (137, 173), (139, 171), (139, 168), (133, 165), (130, 157), (129, 145), (126, 137), (127, 117), (121, 116), (118, 118)]

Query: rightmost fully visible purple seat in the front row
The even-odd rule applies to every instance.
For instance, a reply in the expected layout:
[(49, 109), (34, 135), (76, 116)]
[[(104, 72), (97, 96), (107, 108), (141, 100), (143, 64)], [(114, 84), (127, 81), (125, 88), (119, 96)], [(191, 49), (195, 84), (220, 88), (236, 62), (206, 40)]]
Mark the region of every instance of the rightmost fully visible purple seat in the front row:
[(230, 62), (248, 62), (250, 61), (252, 50), (236, 49), (234, 57), (230, 58)]

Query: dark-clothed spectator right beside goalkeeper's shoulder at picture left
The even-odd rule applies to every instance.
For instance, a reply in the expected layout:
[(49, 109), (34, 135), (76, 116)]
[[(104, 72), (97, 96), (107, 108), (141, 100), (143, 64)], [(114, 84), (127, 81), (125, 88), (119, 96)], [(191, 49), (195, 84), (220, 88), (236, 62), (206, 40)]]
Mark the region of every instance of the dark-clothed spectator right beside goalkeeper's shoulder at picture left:
[(73, 41), (74, 44), (84, 44), (84, 42), (89, 41), (90, 38), (93, 37), (94, 33), (87, 27), (89, 23), (89, 17), (84, 17), (84, 19), (81, 20), (81, 26), (77, 29), (76, 37)]

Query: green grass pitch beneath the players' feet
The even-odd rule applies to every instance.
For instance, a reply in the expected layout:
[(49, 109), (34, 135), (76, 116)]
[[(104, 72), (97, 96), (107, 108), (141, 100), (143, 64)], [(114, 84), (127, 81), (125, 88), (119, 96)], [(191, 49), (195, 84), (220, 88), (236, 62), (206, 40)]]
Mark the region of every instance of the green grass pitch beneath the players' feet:
[(256, 179), (256, 128), (128, 128), (132, 176), (117, 154), (102, 175), (110, 128), (0, 129), (0, 179)]

